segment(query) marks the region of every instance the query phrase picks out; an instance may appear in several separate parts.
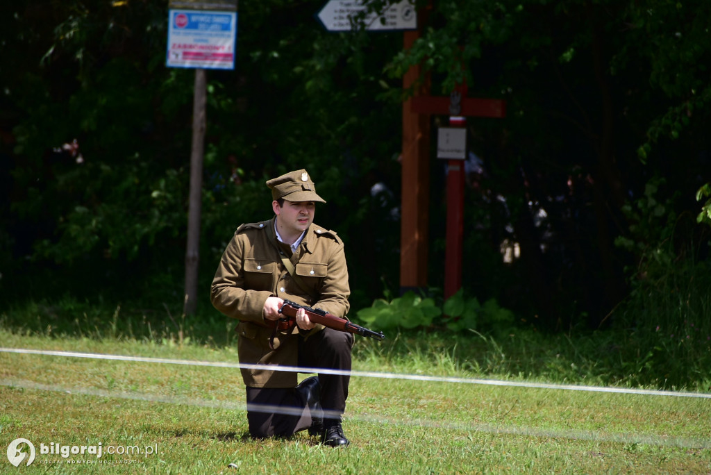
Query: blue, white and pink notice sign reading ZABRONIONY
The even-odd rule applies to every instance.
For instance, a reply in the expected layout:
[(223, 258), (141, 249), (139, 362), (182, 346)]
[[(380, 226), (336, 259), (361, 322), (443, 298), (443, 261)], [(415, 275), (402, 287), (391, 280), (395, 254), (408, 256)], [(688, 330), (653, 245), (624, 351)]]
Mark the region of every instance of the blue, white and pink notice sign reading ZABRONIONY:
[(235, 69), (236, 11), (170, 10), (169, 68)]

